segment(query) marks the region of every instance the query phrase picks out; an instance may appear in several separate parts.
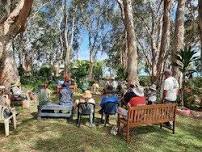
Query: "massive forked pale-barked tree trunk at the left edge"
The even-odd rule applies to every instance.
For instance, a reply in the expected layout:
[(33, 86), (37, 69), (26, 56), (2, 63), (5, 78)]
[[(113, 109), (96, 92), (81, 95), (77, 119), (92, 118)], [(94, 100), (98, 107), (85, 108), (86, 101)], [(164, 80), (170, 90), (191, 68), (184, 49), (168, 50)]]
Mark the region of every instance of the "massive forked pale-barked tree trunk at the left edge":
[(17, 66), (10, 51), (11, 42), (24, 31), (33, 0), (19, 0), (14, 9), (11, 8), (11, 1), (2, 2), (5, 2), (5, 11), (0, 19), (0, 84), (10, 86), (12, 82), (19, 81)]

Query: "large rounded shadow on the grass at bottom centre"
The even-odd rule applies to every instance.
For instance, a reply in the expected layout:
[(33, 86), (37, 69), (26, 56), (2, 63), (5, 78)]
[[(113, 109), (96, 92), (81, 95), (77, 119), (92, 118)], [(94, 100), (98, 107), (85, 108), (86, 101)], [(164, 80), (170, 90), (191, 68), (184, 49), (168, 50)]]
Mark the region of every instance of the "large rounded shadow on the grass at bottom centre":
[[(102, 129), (101, 129), (102, 130)], [(100, 129), (68, 125), (57, 137), (39, 139), (34, 148), (48, 151), (123, 151), (129, 150), (127, 144), (119, 138), (100, 132)], [(116, 144), (115, 144), (116, 143)]]

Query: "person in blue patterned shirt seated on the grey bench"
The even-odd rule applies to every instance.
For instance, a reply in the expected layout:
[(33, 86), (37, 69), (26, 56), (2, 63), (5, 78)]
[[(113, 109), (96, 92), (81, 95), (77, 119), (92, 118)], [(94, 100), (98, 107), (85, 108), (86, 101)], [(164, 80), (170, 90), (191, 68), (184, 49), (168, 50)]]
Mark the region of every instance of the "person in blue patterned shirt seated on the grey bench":
[(60, 105), (72, 104), (72, 92), (67, 84), (63, 84), (59, 95)]

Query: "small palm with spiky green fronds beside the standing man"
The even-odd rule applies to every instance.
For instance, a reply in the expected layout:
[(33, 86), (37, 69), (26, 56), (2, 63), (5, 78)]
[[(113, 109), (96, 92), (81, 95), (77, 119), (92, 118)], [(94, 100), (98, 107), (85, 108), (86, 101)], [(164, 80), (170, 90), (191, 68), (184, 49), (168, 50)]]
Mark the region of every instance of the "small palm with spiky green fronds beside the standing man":
[(185, 88), (185, 76), (192, 74), (193, 71), (193, 63), (196, 60), (199, 60), (198, 56), (196, 56), (196, 51), (191, 47), (185, 47), (184, 50), (180, 50), (176, 55), (176, 63), (174, 66), (177, 66), (182, 72), (182, 90), (181, 90), (181, 105), (184, 107), (184, 88)]

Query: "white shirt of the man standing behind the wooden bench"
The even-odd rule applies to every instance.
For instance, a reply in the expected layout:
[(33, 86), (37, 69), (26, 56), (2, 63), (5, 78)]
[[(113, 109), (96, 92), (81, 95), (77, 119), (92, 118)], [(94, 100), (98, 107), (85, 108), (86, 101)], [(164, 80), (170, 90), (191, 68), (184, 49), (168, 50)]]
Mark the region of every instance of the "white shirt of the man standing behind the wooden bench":
[(179, 84), (174, 77), (168, 77), (164, 81), (163, 90), (167, 91), (165, 99), (168, 101), (176, 101)]

